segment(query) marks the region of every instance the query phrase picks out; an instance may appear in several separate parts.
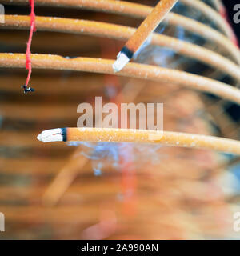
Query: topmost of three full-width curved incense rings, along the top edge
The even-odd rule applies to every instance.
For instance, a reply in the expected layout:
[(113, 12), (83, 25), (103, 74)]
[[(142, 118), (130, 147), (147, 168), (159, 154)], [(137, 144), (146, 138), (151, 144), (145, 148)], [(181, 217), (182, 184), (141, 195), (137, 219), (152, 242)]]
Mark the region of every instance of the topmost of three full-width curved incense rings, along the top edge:
[[(11, 2), (0, 0), (2, 3), (18, 3), (26, 4), (27, 0), (14, 0)], [(114, 14), (125, 14), (137, 18), (146, 18), (148, 14), (153, 10), (150, 6), (144, 6), (141, 4), (135, 4), (131, 2), (123, 1), (96, 1), (96, 0), (36, 0), (36, 5), (47, 5), (47, 6), (62, 6), (62, 7), (74, 7), (74, 8), (86, 8), (90, 10), (105, 11)], [(240, 63), (240, 52), (238, 47), (226, 38), (223, 34), (219, 33), (217, 30), (210, 28), (200, 22), (194, 21), (193, 19), (186, 18), (180, 14), (169, 13), (163, 22), (169, 22), (170, 25), (182, 26), (184, 29), (189, 30), (195, 34), (201, 35), (216, 45), (221, 46), (225, 49), (232, 58), (238, 64)]]

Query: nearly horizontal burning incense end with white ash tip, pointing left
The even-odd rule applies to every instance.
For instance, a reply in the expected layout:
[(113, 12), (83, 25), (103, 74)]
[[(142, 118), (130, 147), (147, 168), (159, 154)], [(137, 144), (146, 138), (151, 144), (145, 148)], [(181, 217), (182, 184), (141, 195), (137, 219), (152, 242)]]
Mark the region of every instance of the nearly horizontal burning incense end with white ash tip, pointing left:
[(227, 138), (185, 134), (159, 130), (133, 130), (111, 128), (57, 128), (44, 130), (38, 135), (42, 142), (135, 142), (159, 143), (240, 154), (240, 142)]

